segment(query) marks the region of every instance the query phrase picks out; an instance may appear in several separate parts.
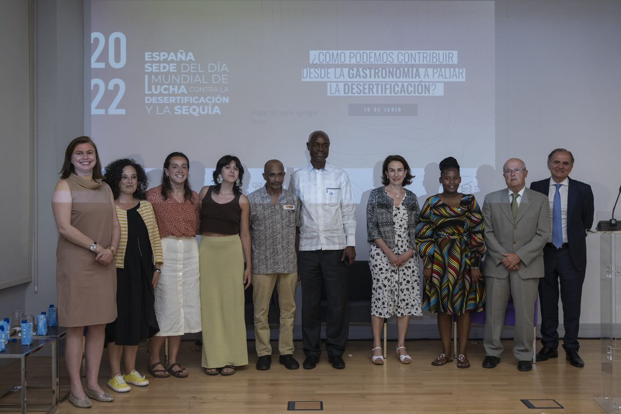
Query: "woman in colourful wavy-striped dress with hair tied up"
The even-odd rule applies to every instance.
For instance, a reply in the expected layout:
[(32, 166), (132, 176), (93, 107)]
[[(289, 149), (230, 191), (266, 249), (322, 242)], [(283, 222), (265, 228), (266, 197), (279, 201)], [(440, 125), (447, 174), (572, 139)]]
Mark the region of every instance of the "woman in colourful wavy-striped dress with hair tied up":
[(451, 362), (451, 325), (457, 316), (458, 368), (468, 368), (466, 345), (471, 312), (483, 311), (485, 286), (481, 277), (483, 215), (472, 194), (461, 194), (460, 165), (453, 157), (440, 162), (442, 192), (429, 197), (420, 212), (416, 243), (424, 260), (423, 310), (438, 314), (442, 353), (432, 362)]

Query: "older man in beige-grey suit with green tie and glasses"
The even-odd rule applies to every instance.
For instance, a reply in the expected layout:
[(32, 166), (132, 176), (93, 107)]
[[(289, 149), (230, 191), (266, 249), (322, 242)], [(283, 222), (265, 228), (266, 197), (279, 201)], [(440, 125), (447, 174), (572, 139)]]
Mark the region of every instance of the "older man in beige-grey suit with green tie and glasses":
[(543, 246), (550, 236), (548, 197), (526, 188), (524, 161), (510, 158), (502, 167), (507, 188), (487, 194), (483, 202), (485, 284), (487, 290), (484, 368), (501, 362), (502, 326), (509, 293), (515, 307), (513, 353), (519, 371), (530, 371), (533, 322), (539, 279), (543, 277)]

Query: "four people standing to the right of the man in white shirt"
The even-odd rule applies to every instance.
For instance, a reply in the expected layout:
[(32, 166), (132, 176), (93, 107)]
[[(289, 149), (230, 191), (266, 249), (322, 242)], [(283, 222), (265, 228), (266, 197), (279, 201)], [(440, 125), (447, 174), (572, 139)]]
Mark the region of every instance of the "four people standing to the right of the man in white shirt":
[[(586, 230), (593, 223), (591, 187), (569, 178), (574, 157), (564, 148), (548, 155), (551, 177), (526, 187), (524, 161), (510, 158), (502, 167), (507, 188), (487, 194), (483, 210), (471, 194), (461, 194), (460, 166), (442, 160), (442, 192), (428, 197), (419, 212), (407, 161), (389, 156), (383, 184), (371, 191), (367, 205), (369, 266), (373, 275), (371, 362), (383, 364), (381, 324), (397, 317), (397, 357), (405, 352), (408, 318), (421, 315), (419, 266), (422, 256), (422, 310), (437, 313), (442, 353), (434, 366), (452, 362), (451, 325), (458, 326), (457, 367), (468, 368), (466, 344), (471, 315), (486, 311), (484, 368), (500, 363), (505, 310), (515, 307), (514, 356), (519, 371), (530, 371), (533, 359), (537, 294), (542, 312), (542, 349), (537, 361), (558, 358), (558, 300), (563, 303), (563, 348), (569, 364), (584, 367), (578, 330), (582, 284), (586, 272)], [(410, 199), (408, 202), (407, 200)], [(484, 276), (484, 277), (483, 277)]]

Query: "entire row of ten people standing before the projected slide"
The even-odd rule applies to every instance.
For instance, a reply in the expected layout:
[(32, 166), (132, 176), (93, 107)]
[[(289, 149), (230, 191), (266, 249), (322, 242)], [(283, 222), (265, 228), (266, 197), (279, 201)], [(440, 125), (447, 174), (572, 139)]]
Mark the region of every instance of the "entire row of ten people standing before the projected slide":
[[(97, 384), (104, 343), (111, 368), (108, 386), (116, 392), (129, 391), (128, 384), (148, 385), (135, 367), (138, 343), (147, 338), (152, 338), (148, 371), (153, 377), (188, 376), (178, 361), (179, 345), (184, 333), (198, 331), (204, 372), (235, 374), (235, 367), (248, 364), (244, 289), (251, 284), (257, 369), (271, 365), (268, 312), (275, 286), (279, 363), (299, 368), (293, 356), (298, 279), (306, 356), (302, 366), (313, 369), (320, 361), (324, 286), (325, 349), (334, 368), (345, 368), (347, 266), (356, 258), (355, 200), (345, 171), (327, 163), (327, 133), (312, 132), (306, 146), (311, 162), (292, 174), (288, 189), (283, 188), (283, 163), (270, 160), (263, 173), (265, 186), (245, 196), (244, 169), (235, 156), (220, 158), (214, 184), (197, 193), (189, 186), (188, 157), (171, 153), (163, 164), (161, 184), (147, 191), (147, 175), (134, 160), (113, 161), (104, 177), (90, 138), (78, 137), (68, 145), (52, 207), (60, 233), (58, 317), (67, 327), (71, 403), (90, 407), (89, 398), (113, 400)], [(384, 160), (383, 186), (370, 192), (366, 209), (373, 364), (384, 362), (379, 338), (384, 318), (393, 315), (396, 356), (409, 364), (409, 319), (427, 311), (438, 315), (443, 348), (432, 364), (453, 361), (455, 317), (460, 339), (457, 366), (468, 368), (471, 313), (486, 308), (483, 367), (495, 367), (502, 354), (500, 337), (510, 294), (516, 309), (514, 354), (518, 369), (528, 371), (537, 292), (543, 317), (543, 349), (537, 360), (558, 356), (560, 278), (564, 348), (572, 365), (584, 366), (577, 336), (584, 238), (592, 225), (593, 196), (587, 184), (568, 178), (573, 161), (567, 150), (552, 151), (551, 178), (527, 189), (524, 162), (508, 160), (503, 166), (507, 189), (488, 194), (482, 212), (474, 196), (458, 191), (461, 177), (455, 158), (440, 163), (442, 192), (429, 197), (422, 209), (415, 194), (404, 188), (414, 178), (407, 161), (399, 155)], [(201, 235), (200, 246), (196, 235)], [(85, 387), (79, 376), (83, 336)], [(166, 339), (167, 360), (162, 362)]]

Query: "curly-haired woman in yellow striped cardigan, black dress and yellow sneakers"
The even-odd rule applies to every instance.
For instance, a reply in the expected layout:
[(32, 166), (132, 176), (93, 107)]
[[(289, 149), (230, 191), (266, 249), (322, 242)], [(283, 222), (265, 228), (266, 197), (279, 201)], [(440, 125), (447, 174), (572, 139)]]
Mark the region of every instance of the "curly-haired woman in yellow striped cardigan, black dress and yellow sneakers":
[[(160, 233), (150, 202), (146, 201), (147, 174), (134, 160), (124, 158), (108, 164), (104, 181), (114, 194), (121, 228), (116, 254), (117, 319), (106, 326), (111, 379), (108, 387), (127, 392), (133, 384), (149, 382), (136, 371), (138, 343), (157, 333), (153, 290), (163, 263)], [(121, 374), (120, 361), (124, 359)], [(162, 376), (168, 376), (164, 372)]]

